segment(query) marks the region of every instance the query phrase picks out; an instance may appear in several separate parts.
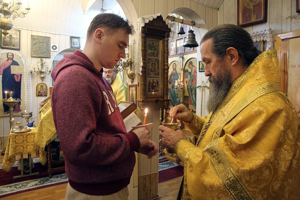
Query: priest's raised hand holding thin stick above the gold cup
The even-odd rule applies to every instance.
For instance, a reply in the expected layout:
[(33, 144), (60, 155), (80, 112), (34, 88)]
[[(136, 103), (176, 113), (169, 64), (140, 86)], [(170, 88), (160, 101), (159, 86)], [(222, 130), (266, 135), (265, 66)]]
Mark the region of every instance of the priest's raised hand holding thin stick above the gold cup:
[(184, 104), (174, 106), (173, 108), (171, 108), (169, 114), (171, 118), (174, 117), (175, 122), (176, 119), (184, 122), (191, 122), (193, 120), (193, 113), (190, 112), (190, 110), (187, 109), (187, 107)]

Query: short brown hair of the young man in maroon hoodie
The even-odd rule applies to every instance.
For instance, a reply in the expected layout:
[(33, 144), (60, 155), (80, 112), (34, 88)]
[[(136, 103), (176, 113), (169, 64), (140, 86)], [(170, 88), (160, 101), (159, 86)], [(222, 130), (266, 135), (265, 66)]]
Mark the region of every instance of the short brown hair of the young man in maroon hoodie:
[(134, 28), (132, 25), (129, 25), (128, 19), (125, 20), (121, 16), (113, 13), (101, 13), (95, 16), (91, 21), (86, 37), (88, 38), (93, 31), (101, 27), (110, 28), (111, 31), (115, 31), (118, 28), (124, 28), (126, 33), (134, 34)]

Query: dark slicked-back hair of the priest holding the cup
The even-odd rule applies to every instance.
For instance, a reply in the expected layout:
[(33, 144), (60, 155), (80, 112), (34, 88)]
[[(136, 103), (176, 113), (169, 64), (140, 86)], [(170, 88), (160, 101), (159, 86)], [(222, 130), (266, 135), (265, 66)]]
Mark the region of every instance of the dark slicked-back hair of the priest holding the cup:
[(227, 48), (233, 47), (241, 56), (243, 64), (247, 66), (261, 53), (253, 45), (250, 34), (233, 24), (221, 24), (212, 28), (202, 37), (201, 43), (208, 39), (212, 39), (214, 54), (222, 58)]

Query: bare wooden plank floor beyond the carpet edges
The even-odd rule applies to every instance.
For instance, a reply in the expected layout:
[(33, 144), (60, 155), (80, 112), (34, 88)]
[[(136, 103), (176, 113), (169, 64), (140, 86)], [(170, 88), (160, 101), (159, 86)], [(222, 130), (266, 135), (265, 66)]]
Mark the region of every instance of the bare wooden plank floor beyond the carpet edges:
[[(158, 194), (161, 195), (159, 200), (174, 200), (177, 197), (179, 186), (182, 177), (172, 179), (158, 184)], [(52, 187), (46, 187), (38, 190), (32, 190), (25, 193), (19, 193), (4, 197), (5, 200), (22, 199), (22, 200), (64, 200), (66, 194), (67, 184), (55, 185)], [(129, 199), (130, 200), (130, 199)]]

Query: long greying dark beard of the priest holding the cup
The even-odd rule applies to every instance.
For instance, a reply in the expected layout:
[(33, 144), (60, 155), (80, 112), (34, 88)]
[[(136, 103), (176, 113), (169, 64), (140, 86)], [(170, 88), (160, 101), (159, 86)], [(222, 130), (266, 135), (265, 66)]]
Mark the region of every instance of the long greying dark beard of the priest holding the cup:
[(222, 64), (220, 64), (220, 70), (216, 73), (216, 77), (209, 76), (208, 81), (212, 84), (212, 88), (207, 101), (208, 112), (216, 111), (221, 105), (230, 90), (231, 80), (230, 72)]

